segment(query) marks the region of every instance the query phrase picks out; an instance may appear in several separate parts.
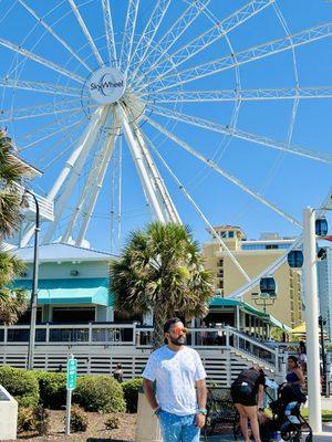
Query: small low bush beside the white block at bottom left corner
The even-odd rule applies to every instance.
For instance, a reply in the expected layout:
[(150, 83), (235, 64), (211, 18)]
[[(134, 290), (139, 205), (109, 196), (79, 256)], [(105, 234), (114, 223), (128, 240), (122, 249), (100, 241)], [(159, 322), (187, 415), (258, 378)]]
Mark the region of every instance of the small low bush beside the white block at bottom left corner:
[(45, 435), (50, 430), (50, 413), (43, 407), (19, 407), (18, 432), (37, 430)]

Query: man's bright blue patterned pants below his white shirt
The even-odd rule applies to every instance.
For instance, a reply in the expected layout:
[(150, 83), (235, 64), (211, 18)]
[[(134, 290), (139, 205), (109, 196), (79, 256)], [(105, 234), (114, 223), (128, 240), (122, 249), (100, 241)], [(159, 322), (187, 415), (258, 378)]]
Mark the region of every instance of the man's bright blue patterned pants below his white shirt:
[(195, 425), (195, 414), (177, 415), (160, 411), (158, 418), (164, 442), (199, 442), (200, 429)]

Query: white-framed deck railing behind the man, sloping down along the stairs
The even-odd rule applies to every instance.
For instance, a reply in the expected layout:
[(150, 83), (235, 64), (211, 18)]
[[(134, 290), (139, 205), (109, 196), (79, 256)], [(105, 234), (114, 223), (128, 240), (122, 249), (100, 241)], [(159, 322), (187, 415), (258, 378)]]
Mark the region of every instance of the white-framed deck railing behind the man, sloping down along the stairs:
[[(0, 346), (19, 346), (29, 343), (29, 325), (0, 326)], [(136, 324), (90, 323), (76, 325), (43, 324), (35, 330), (37, 346), (132, 346), (151, 349), (153, 327)], [(287, 352), (271, 348), (232, 327), (190, 328), (187, 344), (200, 350), (227, 348), (261, 362), (276, 371), (284, 371)]]

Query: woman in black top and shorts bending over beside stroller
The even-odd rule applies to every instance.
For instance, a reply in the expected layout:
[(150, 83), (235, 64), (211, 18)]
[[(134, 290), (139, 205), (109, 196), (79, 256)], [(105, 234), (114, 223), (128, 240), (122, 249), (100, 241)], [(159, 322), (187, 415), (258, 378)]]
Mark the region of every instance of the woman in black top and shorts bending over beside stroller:
[(242, 370), (232, 382), (230, 394), (240, 414), (240, 427), (245, 442), (249, 442), (248, 419), (256, 442), (261, 442), (258, 423), (258, 408), (263, 398), (266, 376), (261, 368), (251, 367)]

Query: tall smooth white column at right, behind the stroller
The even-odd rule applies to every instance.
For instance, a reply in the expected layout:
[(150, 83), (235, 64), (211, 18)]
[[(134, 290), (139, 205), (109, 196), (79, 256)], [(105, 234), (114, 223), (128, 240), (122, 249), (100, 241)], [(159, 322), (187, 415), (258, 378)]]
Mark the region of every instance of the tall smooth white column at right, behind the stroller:
[(321, 383), (320, 383), (320, 341), (319, 303), (315, 265), (315, 213), (311, 208), (303, 212), (303, 255), (304, 295), (308, 356), (309, 422), (314, 433), (322, 431)]

